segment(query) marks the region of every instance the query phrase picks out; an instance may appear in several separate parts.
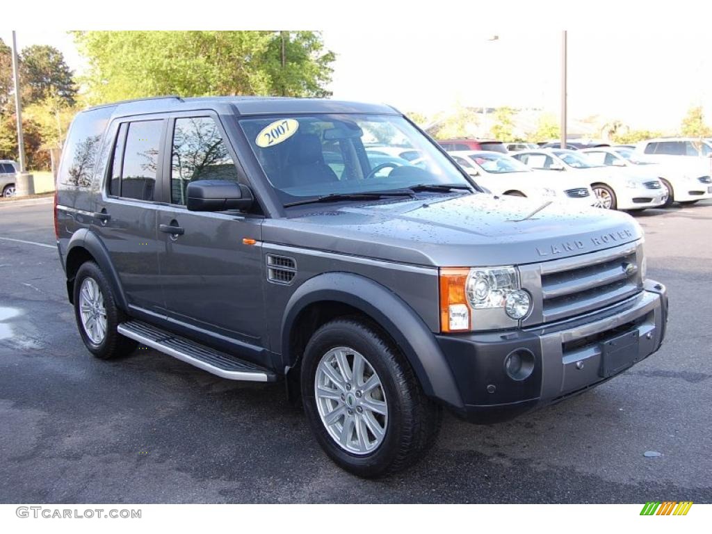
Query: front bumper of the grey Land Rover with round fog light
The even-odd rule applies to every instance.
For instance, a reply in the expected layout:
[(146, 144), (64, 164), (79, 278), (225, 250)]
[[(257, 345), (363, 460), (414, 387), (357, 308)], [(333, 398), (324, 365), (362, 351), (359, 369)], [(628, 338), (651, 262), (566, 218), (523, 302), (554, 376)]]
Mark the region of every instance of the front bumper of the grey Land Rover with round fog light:
[[(458, 414), (477, 423), (504, 421), (605, 382), (659, 349), (667, 308), (666, 288), (646, 281), (641, 293), (622, 303), (560, 323), (436, 336), (464, 401)], [(630, 360), (611, 369), (604, 352), (623, 338), (632, 343)], [(515, 351), (533, 356), (531, 374), (522, 380), (505, 368)]]

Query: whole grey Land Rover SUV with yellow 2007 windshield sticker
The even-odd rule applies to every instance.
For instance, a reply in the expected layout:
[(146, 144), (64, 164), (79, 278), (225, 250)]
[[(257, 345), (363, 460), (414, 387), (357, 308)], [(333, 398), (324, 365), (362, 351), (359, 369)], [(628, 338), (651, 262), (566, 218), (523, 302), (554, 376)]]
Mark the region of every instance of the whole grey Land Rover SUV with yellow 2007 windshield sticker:
[(56, 235), (93, 355), (140, 343), (224, 379), (284, 381), (360, 476), (419, 459), (443, 408), (525, 414), (665, 334), (634, 219), (486, 194), (385, 105), (167, 97), (80, 112)]

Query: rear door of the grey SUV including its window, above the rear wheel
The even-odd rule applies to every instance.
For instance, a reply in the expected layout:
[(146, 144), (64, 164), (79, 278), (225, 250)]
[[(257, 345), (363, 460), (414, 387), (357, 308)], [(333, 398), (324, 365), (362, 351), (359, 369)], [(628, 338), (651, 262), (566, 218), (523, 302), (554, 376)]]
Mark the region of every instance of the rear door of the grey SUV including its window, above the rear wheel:
[(112, 157), (95, 204), (94, 231), (109, 253), (130, 306), (162, 313), (158, 280), (157, 187), (167, 120), (122, 119), (110, 127)]

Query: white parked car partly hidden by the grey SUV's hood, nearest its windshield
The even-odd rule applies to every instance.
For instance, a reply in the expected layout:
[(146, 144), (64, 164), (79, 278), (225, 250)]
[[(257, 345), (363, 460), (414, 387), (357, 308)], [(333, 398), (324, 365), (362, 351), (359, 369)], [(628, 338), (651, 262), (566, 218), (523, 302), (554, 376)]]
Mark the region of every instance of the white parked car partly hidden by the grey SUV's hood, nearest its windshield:
[(550, 173), (536, 172), (501, 152), (462, 150), (449, 154), (475, 182), (493, 194), (546, 198), (582, 206), (596, 203), (585, 180), (561, 179)]

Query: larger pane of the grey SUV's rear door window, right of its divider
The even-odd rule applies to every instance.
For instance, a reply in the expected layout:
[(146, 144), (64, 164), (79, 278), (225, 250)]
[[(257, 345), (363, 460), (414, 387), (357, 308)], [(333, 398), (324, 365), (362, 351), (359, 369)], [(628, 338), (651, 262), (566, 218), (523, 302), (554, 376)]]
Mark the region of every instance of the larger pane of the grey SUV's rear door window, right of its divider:
[(130, 122), (121, 172), (121, 196), (153, 200), (156, 189), (162, 120)]

